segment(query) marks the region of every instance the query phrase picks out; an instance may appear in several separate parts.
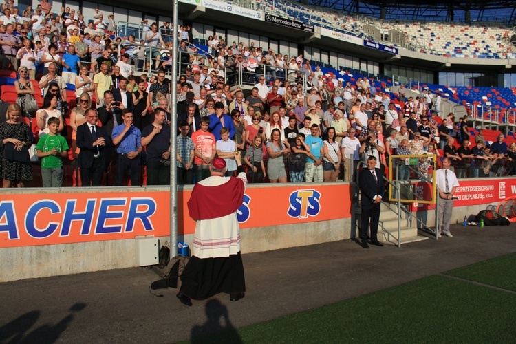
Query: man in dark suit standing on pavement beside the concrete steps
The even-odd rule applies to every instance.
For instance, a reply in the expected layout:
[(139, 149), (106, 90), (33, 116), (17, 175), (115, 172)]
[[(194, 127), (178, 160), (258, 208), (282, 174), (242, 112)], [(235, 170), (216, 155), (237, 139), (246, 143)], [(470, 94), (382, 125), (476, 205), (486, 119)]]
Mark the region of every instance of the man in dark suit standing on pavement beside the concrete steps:
[(362, 169), (360, 177), (361, 208), (362, 208), (362, 224), (360, 227), (361, 246), (369, 248), (367, 245), (367, 227), (369, 219), (371, 219), (371, 244), (383, 246), (378, 241), (378, 221), (380, 220), (380, 204), (385, 193), (383, 185), (383, 175), (380, 169), (376, 169), (376, 158), (370, 156), (367, 158), (367, 169)]

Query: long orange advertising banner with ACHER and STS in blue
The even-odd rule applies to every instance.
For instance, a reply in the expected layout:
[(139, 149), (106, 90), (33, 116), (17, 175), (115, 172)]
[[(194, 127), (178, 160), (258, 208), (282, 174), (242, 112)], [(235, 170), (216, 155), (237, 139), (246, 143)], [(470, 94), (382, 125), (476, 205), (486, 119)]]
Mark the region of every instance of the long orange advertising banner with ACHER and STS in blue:
[[(190, 195), (191, 191), (178, 193), (180, 235), (195, 231), (186, 206)], [(170, 233), (169, 204), (168, 190), (3, 195), (0, 248), (165, 237)], [(350, 186), (248, 188), (237, 216), (241, 228), (351, 217)]]

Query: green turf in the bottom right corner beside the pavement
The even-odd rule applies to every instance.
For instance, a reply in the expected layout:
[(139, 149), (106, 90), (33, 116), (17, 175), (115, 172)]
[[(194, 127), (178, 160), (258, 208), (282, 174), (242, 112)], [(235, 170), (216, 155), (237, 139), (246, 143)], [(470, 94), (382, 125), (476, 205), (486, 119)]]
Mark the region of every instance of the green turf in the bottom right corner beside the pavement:
[[(516, 255), (449, 275), (515, 290)], [(195, 343), (515, 343), (516, 294), (431, 276)]]

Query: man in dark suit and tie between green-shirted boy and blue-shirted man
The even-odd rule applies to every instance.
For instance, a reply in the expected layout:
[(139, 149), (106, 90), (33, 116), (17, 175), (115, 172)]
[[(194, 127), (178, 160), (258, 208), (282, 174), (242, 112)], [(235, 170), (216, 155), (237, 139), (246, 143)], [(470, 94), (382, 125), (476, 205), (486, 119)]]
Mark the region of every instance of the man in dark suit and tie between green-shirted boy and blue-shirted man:
[(107, 147), (111, 146), (111, 138), (104, 127), (98, 127), (96, 109), (88, 109), (86, 122), (77, 127), (77, 147), (80, 148), (78, 167), (83, 186), (100, 186), (103, 178)]

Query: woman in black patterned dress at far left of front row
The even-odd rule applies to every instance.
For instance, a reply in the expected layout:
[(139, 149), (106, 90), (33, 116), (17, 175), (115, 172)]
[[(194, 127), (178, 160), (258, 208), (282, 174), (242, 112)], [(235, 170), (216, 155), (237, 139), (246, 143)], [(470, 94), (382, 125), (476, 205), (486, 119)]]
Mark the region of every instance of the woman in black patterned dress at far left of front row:
[[(0, 144), (3, 151), (6, 151), (6, 144), (14, 144), (14, 149), (21, 151), (21, 147), (32, 144), (30, 128), (21, 119), (21, 107), (18, 104), (9, 105), (6, 114), (6, 122), (0, 125)], [(13, 184), (17, 187), (24, 187), (25, 182), (32, 180), (32, 168), (27, 155), (27, 162), (17, 162), (2, 158), (3, 187), (10, 188)]]

